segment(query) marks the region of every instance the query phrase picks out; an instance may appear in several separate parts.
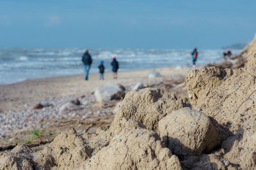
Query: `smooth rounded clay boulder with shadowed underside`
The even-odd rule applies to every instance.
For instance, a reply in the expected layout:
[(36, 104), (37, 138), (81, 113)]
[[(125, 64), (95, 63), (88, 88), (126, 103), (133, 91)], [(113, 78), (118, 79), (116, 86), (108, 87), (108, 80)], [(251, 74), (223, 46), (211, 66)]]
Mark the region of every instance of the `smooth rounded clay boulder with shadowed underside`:
[(211, 120), (190, 108), (173, 111), (160, 120), (159, 135), (177, 155), (201, 155), (220, 143)]

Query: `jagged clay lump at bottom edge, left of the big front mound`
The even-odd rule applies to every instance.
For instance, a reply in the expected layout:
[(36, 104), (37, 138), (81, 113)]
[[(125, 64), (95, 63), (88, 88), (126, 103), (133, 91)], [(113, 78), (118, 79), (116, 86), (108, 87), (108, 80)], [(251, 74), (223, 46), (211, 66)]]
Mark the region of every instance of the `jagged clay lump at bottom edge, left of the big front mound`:
[(91, 156), (93, 149), (86, 145), (84, 139), (74, 129), (61, 132), (43, 153), (52, 155), (58, 169), (76, 169)]

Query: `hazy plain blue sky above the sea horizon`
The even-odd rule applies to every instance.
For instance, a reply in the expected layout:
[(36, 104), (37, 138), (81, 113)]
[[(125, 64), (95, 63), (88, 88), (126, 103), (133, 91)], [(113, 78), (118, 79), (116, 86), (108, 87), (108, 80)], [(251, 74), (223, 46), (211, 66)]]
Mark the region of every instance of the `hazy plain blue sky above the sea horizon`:
[(218, 49), (252, 40), (253, 0), (1, 0), (0, 47)]

